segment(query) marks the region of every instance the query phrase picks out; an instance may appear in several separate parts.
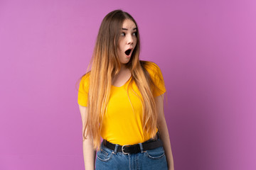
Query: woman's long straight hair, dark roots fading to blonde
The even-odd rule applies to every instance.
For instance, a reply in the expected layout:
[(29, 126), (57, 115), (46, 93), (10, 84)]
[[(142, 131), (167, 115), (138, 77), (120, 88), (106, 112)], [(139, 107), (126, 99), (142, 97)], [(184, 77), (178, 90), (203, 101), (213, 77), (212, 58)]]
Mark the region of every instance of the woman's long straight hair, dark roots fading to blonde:
[[(95, 148), (100, 147), (102, 120), (110, 99), (112, 78), (118, 74), (121, 67), (117, 55), (117, 45), (122, 23), (125, 19), (132, 20), (137, 26), (134, 18), (129, 13), (121, 10), (112, 11), (105, 16), (97, 35), (95, 50), (92, 55), (91, 71), (87, 72), (90, 75), (90, 85), (83, 137), (84, 139), (87, 136), (92, 138)], [(151, 137), (154, 137), (157, 125), (156, 103), (152, 94), (154, 83), (146, 71), (146, 66), (149, 62), (139, 60), (139, 50), (139, 29), (137, 26), (137, 45), (134, 48), (131, 59), (127, 63), (127, 67), (132, 73), (129, 85), (135, 82), (142, 94), (144, 130)]]

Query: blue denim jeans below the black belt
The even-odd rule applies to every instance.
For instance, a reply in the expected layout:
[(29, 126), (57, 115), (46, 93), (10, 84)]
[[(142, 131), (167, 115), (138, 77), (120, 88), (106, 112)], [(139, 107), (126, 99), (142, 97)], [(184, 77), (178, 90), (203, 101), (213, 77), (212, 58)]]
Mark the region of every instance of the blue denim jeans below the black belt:
[(117, 147), (113, 151), (104, 145), (100, 146), (96, 158), (96, 170), (167, 170), (166, 156), (164, 148), (146, 150), (137, 154), (124, 154), (117, 152)]

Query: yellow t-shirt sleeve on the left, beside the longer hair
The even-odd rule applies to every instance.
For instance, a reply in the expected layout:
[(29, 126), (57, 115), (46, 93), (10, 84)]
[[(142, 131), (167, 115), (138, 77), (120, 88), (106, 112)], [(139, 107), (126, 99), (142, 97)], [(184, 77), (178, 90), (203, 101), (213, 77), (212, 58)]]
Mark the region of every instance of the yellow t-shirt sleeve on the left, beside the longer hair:
[(87, 107), (89, 82), (90, 82), (90, 76), (89, 74), (85, 74), (80, 81), (80, 85), (78, 89), (78, 104), (80, 106)]

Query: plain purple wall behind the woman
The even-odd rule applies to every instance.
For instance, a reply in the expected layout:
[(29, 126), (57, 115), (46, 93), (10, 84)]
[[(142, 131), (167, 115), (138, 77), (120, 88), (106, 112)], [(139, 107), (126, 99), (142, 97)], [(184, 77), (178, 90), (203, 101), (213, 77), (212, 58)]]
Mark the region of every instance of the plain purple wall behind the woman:
[(0, 169), (83, 169), (75, 83), (121, 8), (166, 81), (175, 168), (255, 169), (256, 1), (0, 1)]

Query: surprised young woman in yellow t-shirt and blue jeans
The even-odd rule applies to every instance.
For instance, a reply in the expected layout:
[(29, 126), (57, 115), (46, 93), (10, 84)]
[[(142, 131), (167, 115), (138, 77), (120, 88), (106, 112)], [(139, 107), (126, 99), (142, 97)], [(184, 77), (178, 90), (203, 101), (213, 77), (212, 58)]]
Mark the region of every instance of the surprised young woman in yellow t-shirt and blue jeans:
[(139, 50), (134, 18), (108, 13), (78, 91), (86, 170), (174, 169), (164, 79), (156, 64), (139, 60)]

